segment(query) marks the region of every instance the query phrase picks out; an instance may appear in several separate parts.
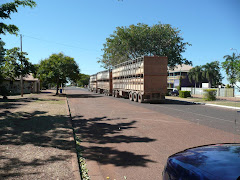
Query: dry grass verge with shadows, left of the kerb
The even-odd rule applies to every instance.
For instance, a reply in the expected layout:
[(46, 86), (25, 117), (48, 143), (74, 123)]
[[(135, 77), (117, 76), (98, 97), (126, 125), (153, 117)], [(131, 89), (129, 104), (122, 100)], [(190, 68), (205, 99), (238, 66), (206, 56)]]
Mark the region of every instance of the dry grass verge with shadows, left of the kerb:
[(80, 179), (66, 97), (0, 97), (0, 179)]

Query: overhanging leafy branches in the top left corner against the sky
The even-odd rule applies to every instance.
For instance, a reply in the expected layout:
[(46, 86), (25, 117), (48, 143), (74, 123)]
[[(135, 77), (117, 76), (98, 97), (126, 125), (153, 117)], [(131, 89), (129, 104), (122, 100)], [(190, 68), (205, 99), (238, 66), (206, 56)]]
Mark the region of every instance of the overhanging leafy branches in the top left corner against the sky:
[[(2, 4), (0, 6), (0, 18), (1, 19), (11, 19), (11, 14), (18, 12), (17, 8), (19, 6), (29, 6), (29, 7), (35, 7), (36, 3), (33, 0), (14, 0), (14, 2), (9, 2)], [(18, 27), (13, 24), (5, 24), (3, 22), (0, 22), (0, 34), (6, 34), (7, 32), (9, 34), (15, 34), (17, 35), (17, 32), (19, 31)]]

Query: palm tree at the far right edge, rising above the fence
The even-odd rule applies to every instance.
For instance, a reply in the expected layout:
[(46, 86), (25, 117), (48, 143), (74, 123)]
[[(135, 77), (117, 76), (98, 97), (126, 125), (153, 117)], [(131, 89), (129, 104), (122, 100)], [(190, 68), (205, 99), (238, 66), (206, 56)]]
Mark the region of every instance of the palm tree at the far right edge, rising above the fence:
[(236, 85), (236, 82), (239, 81), (240, 74), (240, 56), (233, 53), (232, 56), (226, 55), (223, 58), (225, 61), (222, 62), (222, 68), (228, 76), (227, 79), (232, 86)]

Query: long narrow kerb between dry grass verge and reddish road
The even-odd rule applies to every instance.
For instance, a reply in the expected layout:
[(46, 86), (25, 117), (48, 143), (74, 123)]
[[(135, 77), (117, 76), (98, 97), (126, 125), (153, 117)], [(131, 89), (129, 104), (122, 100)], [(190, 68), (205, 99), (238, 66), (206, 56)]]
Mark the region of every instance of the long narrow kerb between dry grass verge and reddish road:
[(69, 107), (69, 104), (68, 104), (68, 99), (67, 99), (67, 96), (66, 96), (66, 106), (67, 106), (67, 113), (68, 113), (68, 116), (69, 116), (69, 120), (70, 120), (70, 125), (72, 127), (72, 130), (73, 130), (73, 136), (70, 138), (70, 141), (72, 141), (74, 143), (74, 146), (75, 146), (75, 153), (72, 153), (72, 168), (73, 168), (73, 175), (74, 175), (74, 178), (76, 180), (80, 180), (82, 179), (80, 174), (81, 174), (81, 171), (80, 171), (80, 166), (79, 166), (79, 162), (78, 162), (78, 153), (77, 153), (77, 150), (76, 150), (76, 140), (75, 140), (75, 133), (74, 133), (74, 129), (73, 129), (73, 124), (72, 124), (72, 116), (71, 116), (71, 111), (70, 111), (70, 107)]

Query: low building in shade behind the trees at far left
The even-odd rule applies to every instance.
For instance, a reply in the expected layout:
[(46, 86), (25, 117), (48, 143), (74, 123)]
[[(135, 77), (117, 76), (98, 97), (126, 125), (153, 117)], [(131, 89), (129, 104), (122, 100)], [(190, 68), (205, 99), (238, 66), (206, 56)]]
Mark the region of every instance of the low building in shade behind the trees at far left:
[[(5, 86), (11, 94), (21, 94), (21, 81), (20, 78), (16, 78), (14, 81), (5, 79), (1, 86)], [(34, 78), (32, 74), (23, 77), (23, 93), (39, 93), (40, 81)]]

